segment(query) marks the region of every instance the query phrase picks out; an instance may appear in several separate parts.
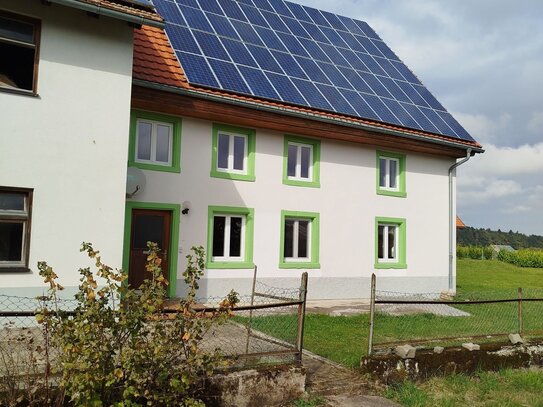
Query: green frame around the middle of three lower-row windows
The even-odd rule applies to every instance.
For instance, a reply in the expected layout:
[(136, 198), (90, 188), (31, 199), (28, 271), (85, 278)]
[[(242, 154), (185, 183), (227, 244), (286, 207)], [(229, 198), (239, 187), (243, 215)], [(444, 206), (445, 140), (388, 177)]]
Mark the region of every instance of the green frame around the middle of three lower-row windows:
[[(308, 259), (301, 260), (288, 260), (285, 258), (285, 233), (286, 233), (286, 220), (307, 220), (309, 221), (309, 242), (307, 248), (309, 249)], [(299, 212), (299, 211), (281, 211), (281, 240), (279, 243), (279, 268), (280, 269), (319, 269), (319, 247), (320, 247), (320, 215), (316, 212)]]

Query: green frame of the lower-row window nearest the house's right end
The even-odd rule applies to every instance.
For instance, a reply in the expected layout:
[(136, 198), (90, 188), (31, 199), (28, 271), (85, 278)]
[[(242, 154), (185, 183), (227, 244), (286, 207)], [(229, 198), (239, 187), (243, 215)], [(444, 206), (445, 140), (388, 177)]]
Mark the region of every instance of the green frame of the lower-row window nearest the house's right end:
[[(375, 218), (375, 265), (376, 269), (406, 269), (406, 252), (407, 252), (407, 234), (406, 234), (406, 220), (403, 218), (388, 218), (388, 217), (376, 217)], [(379, 227), (384, 228), (383, 238), (379, 239)], [(394, 228), (394, 258), (388, 258), (386, 253), (386, 247), (388, 241), (388, 231)], [(386, 234), (386, 235), (385, 235)], [(382, 255), (379, 254), (381, 247)], [(389, 246), (390, 250), (390, 246)], [(381, 257), (381, 258), (380, 258)]]

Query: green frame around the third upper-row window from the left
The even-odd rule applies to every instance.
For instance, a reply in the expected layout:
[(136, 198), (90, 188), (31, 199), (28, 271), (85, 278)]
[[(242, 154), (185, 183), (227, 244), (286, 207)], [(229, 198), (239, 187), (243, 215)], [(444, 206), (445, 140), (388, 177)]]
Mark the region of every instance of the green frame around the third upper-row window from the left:
[[(298, 187), (310, 187), (310, 188), (320, 188), (320, 157), (321, 157), (321, 142), (320, 140), (308, 139), (303, 137), (289, 136), (284, 137), (284, 147), (283, 147), (283, 184), (292, 185)], [(301, 149), (300, 147), (310, 147), (311, 158), (310, 158), (310, 168), (308, 172), (310, 177), (305, 180), (302, 177), (289, 176), (289, 146), (297, 146), (297, 153), (299, 154)], [(299, 162), (300, 157), (297, 157), (295, 160), (295, 165), (301, 166)], [(298, 169), (296, 169), (298, 172)]]

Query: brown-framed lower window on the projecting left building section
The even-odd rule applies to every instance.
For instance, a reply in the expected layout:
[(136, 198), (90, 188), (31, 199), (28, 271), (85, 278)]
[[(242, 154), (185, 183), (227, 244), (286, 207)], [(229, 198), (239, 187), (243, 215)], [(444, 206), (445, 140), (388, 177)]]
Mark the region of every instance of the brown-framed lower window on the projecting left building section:
[(0, 270), (28, 267), (32, 191), (0, 188)]

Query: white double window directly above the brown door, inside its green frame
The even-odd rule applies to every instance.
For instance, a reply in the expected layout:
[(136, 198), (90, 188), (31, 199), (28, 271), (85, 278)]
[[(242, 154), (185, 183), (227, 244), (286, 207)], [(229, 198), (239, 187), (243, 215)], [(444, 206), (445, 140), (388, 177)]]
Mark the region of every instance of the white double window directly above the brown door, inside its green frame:
[(173, 124), (138, 119), (136, 162), (172, 165)]

